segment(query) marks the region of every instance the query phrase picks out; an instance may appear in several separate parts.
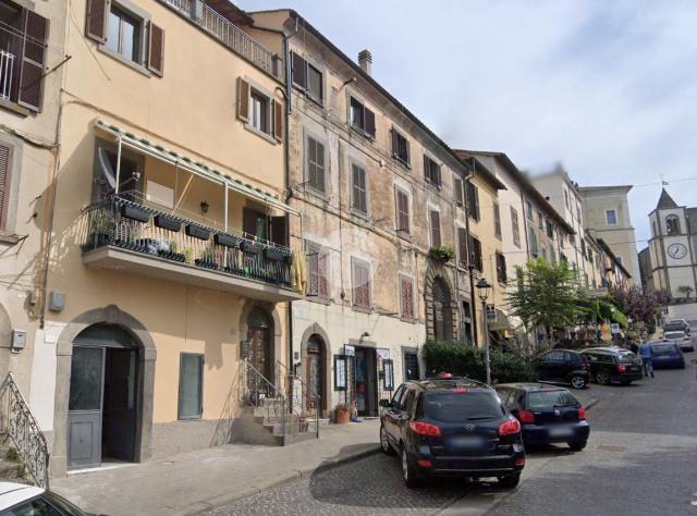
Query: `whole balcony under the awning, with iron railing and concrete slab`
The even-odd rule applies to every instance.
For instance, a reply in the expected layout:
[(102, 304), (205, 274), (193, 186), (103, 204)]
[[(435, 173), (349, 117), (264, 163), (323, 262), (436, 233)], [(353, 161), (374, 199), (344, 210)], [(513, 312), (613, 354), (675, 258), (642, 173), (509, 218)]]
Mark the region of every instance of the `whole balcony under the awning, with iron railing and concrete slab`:
[(302, 297), (292, 290), (288, 247), (201, 224), (132, 194), (110, 195), (85, 208), (78, 232), (89, 267), (267, 302)]

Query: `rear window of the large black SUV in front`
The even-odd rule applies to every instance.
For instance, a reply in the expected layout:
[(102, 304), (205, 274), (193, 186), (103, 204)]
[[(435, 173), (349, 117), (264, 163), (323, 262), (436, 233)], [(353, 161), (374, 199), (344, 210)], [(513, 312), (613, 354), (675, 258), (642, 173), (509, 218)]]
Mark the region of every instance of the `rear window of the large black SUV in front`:
[(488, 391), (429, 392), (424, 400), (424, 415), (441, 422), (497, 419), (504, 414), (498, 396)]

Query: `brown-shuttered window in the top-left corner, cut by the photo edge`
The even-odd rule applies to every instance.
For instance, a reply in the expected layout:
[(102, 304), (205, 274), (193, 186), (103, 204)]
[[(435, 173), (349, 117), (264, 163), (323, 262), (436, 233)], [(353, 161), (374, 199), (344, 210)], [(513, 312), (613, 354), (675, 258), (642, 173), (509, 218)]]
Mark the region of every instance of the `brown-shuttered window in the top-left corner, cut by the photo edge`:
[(0, 99), (40, 111), (49, 22), (13, 2), (0, 8)]

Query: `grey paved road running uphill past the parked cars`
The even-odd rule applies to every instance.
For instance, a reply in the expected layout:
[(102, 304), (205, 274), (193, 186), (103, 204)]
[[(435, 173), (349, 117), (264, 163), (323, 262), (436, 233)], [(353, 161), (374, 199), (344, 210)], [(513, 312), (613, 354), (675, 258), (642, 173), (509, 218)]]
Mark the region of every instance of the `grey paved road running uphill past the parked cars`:
[(690, 364), (686, 370), (658, 371), (637, 385), (594, 384), (579, 396), (600, 400), (589, 411), (588, 447), (529, 453), (514, 492), (496, 482), (467, 488), (462, 481), (411, 491), (398, 460), (380, 454), (210, 514), (697, 516), (696, 371)]

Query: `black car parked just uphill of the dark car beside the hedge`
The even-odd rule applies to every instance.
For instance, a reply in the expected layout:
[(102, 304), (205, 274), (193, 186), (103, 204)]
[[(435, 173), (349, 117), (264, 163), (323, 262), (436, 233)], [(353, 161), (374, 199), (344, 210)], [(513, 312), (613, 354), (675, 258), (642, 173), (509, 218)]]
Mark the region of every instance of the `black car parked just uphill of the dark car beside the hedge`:
[(641, 358), (628, 349), (614, 346), (588, 347), (582, 353), (590, 365), (590, 377), (601, 385), (628, 385), (644, 378)]

